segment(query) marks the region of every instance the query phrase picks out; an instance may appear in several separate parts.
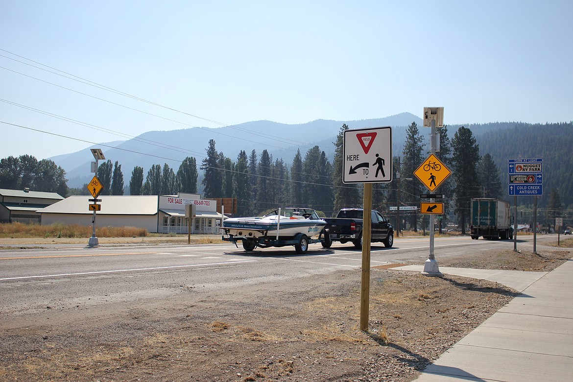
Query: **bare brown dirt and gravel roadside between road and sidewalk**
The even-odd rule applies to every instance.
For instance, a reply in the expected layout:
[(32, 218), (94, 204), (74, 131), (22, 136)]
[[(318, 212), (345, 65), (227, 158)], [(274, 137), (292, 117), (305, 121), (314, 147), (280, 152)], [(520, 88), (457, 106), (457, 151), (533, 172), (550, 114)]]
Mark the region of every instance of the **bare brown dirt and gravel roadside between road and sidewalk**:
[[(573, 255), (538, 252), (481, 252), (440, 266), (548, 271)], [(359, 272), (249, 286), (248, 300), (190, 290), (91, 320), (70, 309), (15, 329), (0, 323), (0, 381), (406, 382), (517, 294), (374, 267), (363, 333)]]

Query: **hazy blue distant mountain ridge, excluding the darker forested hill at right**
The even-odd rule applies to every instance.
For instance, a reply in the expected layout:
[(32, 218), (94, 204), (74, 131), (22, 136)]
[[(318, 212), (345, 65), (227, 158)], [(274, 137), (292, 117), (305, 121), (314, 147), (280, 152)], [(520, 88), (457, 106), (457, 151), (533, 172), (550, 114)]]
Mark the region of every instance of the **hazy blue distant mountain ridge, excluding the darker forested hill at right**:
[[(401, 113), (378, 119), (356, 121), (315, 120), (304, 124), (283, 124), (272, 121), (252, 121), (220, 128), (193, 127), (173, 131), (150, 131), (133, 139), (113, 141), (94, 145), (104, 152), (106, 160), (121, 164), (125, 184), (129, 184), (135, 166), (143, 167), (144, 174), (154, 164), (163, 167), (167, 163), (176, 172), (187, 156), (195, 157), (200, 164), (206, 157), (209, 140), (215, 140), (215, 148), (233, 160), (240, 150), (247, 155), (254, 149), (257, 155), (266, 149), (273, 159), (282, 159), (290, 166), (297, 149), (304, 158), (308, 149), (318, 145), (329, 160), (334, 156), (333, 142), (340, 128), (347, 124), (351, 129), (391, 126), (393, 127), (393, 151), (402, 151), (406, 129), (415, 122), (422, 125), (422, 119), (411, 113)], [(50, 157), (66, 171), (68, 187), (83, 187), (93, 174), (93, 162), (89, 149)], [(101, 164), (101, 163), (100, 163)]]

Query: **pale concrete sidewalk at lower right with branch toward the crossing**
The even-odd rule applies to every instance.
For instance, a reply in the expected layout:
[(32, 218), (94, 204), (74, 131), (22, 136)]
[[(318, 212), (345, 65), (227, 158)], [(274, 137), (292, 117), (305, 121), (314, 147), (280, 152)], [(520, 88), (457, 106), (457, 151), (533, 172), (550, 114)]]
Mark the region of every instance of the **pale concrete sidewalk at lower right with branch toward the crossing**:
[[(423, 266), (395, 269), (421, 271)], [(549, 273), (439, 270), (497, 281), (521, 294), (429, 365), (416, 382), (573, 381), (573, 259)]]

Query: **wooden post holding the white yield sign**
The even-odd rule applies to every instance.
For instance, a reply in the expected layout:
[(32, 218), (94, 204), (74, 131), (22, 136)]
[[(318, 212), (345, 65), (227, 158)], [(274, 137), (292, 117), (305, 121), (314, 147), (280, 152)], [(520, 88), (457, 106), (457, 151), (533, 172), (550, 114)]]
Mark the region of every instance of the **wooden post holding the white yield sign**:
[(360, 330), (368, 330), (370, 306), (370, 239), (372, 231), (372, 183), (364, 183), (362, 215), (362, 279), (360, 288)]

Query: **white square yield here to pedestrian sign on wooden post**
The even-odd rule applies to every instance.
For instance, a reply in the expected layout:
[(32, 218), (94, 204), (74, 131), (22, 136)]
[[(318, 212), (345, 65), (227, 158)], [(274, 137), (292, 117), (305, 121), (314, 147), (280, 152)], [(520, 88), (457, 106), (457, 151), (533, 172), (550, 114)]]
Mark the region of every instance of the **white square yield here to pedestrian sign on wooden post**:
[(392, 128), (344, 131), (343, 183), (392, 182)]

